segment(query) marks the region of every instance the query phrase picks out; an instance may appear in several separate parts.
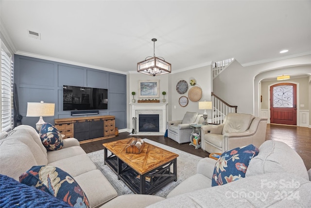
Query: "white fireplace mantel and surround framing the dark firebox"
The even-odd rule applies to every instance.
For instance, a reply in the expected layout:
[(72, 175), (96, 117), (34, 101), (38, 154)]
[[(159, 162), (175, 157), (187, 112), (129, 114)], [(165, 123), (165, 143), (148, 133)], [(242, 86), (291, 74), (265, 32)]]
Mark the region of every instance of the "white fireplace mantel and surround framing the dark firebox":
[[(166, 131), (167, 112), (166, 106), (168, 103), (130, 103), (131, 117), (137, 117), (137, 127), (139, 126), (139, 114), (159, 114), (159, 133), (164, 134)], [(133, 122), (131, 122), (131, 130)], [(138, 132), (137, 128), (137, 132)], [(138, 132), (139, 133), (139, 132)], [(145, 133), (145, 132), (144, 132)]]

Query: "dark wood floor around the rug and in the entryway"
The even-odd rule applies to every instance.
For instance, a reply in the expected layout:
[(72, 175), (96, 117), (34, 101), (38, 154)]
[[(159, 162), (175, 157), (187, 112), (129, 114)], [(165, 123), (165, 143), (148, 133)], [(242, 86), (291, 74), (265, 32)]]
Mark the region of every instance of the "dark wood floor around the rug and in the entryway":
[[(104, 147), (102, 144), (106, 142), (116, 141), (129, 137), (146, 138), (146, 136), (130, 136), (129, 134), (129, 132), (122, 132), (119, 133), (119, 135), (115, 138), (81, 144), (81, 147), (84, 149), (84, 151), (86, 151), (86, 153), (89, 153), (92, 151), (103, 150)], [(207, 157), (209, 155), (208, 152), (203, 151), (202, 149), (195, 149), (192, 145), (189, 145), (189, 143), (178, 144), (168, 137), (148, 136), (148, 139), (200, 157)], [(311, 169), (311, 128), (268, 124), (266, 140), (276, 140), (286, 143), (300, 155), (306, 165), (307, 170)]]

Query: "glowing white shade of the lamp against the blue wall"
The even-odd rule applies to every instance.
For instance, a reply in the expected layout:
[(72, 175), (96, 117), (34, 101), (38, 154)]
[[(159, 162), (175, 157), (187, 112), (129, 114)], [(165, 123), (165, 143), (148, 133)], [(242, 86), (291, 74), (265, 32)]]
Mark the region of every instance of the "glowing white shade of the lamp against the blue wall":
[(54, 116), (55, 103), (27, 103), (27, 117)]

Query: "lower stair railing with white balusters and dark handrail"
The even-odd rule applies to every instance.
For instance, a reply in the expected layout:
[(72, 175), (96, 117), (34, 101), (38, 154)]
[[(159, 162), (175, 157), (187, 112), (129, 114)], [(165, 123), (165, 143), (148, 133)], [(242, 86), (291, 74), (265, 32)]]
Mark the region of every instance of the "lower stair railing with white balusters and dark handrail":
[(222, 124), (228, 113), (237, 113), (238, 106), (232, 106), (212, 92), (212, 124)]

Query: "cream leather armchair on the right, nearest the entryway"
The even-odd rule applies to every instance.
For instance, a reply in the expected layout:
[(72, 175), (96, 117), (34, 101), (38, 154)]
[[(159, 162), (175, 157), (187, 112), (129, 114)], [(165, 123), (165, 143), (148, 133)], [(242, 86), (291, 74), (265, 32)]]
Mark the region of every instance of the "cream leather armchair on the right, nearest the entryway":
[(202, 149), (212, 153), (253, 144), (259, 147), (266, 137), (266, 117), (229, 113), (221, 125), (201, 127)]

